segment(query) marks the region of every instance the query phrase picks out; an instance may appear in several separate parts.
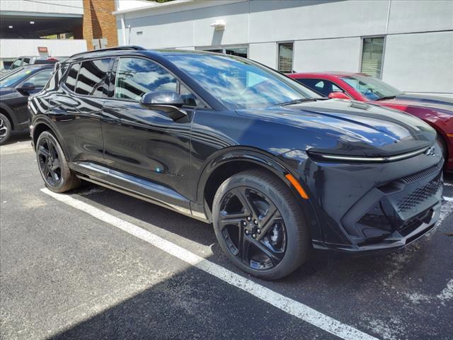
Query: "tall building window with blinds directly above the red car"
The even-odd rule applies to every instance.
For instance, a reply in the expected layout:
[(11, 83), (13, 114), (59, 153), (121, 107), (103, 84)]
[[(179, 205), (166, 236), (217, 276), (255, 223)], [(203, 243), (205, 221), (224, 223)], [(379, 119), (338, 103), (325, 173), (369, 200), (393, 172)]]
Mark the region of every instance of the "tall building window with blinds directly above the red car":
[(363, 38), (360, 72), (381, 79), (384, 41), (384, 37)]

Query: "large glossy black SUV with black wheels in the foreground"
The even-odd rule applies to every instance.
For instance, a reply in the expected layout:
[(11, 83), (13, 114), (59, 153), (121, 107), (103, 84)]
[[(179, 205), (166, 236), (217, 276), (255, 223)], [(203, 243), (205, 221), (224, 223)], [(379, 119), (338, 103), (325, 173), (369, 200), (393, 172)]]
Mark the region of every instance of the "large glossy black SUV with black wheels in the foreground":
[(260, 278), (286, 276), (312, 247), (399, 249), (440, 214), (430, 126), (241, 57), (85, 52), (29, 111), (50, 190), (90, 181), (212, 222), (229, 259)]

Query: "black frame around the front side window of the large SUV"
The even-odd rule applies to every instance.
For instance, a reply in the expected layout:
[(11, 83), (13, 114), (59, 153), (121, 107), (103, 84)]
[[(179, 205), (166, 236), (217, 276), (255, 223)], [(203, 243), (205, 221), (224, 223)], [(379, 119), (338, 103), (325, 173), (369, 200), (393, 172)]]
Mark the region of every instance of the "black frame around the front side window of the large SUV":
[[(147, 60), (149, 62), (153, 62), (154, 64), (158, 65), (159, 67), (162, 67), (163, 69), (165, 69), (166, 72), (171, 74), (171, 76), (173, 76), (176, 79), (176, 89), (178, 90), (177, 91), (178, 94), (180, 94), (180, 86), (182, 84), (183, 86), (185, 86), (186, 89), (188, 89), (190, 92), (192, 92), (192, 94), (194, 96), (196, 96), (199, 101), (201, 101), (205, 105), (205, 106), (187, 106), (187, 105), (183, 105), (183, 108), (185, 108), (185, 109), (193, 109), (193, 110), (195, 110), (195, 109), (197, 109), (197, 110), (212, 110), (212, 107), (200, 95), (198, 95), (195, 91), (193, 91), (193, 89), (190, 86), (188, 86), (188, 84), (185, 84), (184, 81), (182, 81), (179, 77), (176, 76), (176, 74), (171, 72), (171, 70), (168, 69), (168, 67), (165, 67), (160, 62), (157, 62), (156, 60), (151, 59), (149, 57), (144, 57), (143, 55), (118, 55), (118, 56), (115, 56), (114, 58), (115, 58), (115, 61), (113, 62), (113, 66), (109, 70), (110, 74), (108, 76), (108, 79), (109, 79), (108, 99), (109, 100), (127, 101), (127, 102), (130, 102), (130, 103), (140, 103), (139, 101), (134, 101), (133, 99), (115, 98), (115, 82), (116, 82), (115, 80), (116, 80), (116, 76), (117, 76), (118, 63), (120, 62), (120, 59), (121, 58), (137, 58), (137, 59), (143, 59), (143, 60)], [(79, 77), (79, 75), (77, 75), (77, 77)]]

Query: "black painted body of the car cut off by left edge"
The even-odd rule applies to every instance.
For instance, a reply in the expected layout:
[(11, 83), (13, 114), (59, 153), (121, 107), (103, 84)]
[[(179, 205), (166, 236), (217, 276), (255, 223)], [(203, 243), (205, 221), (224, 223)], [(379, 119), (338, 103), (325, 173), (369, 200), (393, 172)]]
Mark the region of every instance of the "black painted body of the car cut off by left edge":
[[(25, 77), (18, 79), (11, 87), (0, 89), (0, 111), (10, 119), (13, 130), (25, 130), (28, 128), (28, 96), (37, 94), (42, 87), (32, 90), (21, 89), (21, 86), (38, 72), (45, 69), (53, 69), (54, 65), (39, 65), (26, 67), (30, 71)], [(23, 67), (21, 69), (24, 69)]]

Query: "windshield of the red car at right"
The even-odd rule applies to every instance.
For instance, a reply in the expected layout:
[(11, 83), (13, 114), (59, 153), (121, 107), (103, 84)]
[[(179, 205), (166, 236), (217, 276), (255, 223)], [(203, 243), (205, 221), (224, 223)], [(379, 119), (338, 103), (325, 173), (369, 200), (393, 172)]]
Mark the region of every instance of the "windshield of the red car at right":
[(394, 97), (403, 94), (403, 92), (395, 89), (393, 86), (380, 81), (379, 79), (367, 76), (350, 76), (341, 78), (345, 83), (359, 91), (363, 96), (370, 101), (376, 101), (386, 97)]

